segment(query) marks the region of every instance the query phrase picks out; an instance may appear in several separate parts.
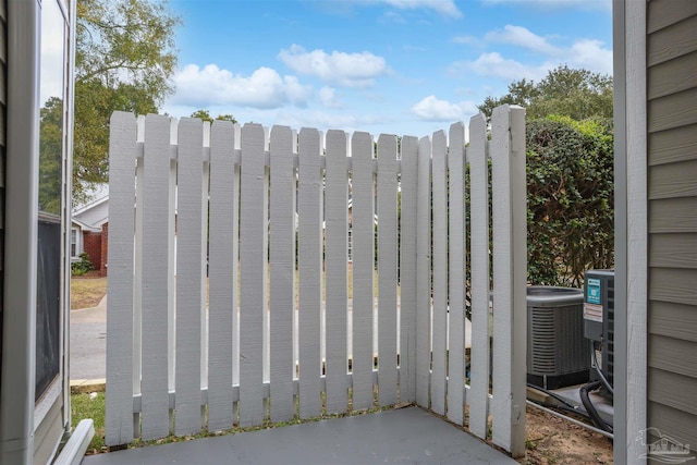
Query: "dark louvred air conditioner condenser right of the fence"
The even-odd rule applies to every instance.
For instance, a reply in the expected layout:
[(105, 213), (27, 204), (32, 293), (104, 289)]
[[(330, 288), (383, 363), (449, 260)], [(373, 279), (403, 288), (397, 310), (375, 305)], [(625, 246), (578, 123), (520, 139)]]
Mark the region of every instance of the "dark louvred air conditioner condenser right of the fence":
[(584, 338), (584, 292), (527, 287), (527, 381), (558, 389), (588, 381), (590, 342)]

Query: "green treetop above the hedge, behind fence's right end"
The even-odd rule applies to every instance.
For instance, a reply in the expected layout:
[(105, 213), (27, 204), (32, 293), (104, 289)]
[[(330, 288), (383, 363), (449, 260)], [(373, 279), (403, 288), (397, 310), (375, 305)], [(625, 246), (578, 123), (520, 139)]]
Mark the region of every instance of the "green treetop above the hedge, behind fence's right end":
[(577, 121), (611, 119), (612, 76), (562, 65), (551, 70), (539, 83), (525, 78), (513, 82), (506, 95), (487, 97), (477, 108), (490, 117), (491, 110), (504, 103), (525, 107), (528, 120), (551, 114)]

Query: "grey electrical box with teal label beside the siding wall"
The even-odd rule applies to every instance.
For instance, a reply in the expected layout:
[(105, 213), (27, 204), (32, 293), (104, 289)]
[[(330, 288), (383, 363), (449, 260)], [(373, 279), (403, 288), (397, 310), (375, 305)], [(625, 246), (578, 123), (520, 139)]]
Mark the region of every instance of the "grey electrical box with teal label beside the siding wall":
[[(614, 270), (589, 270), (585, 277), (584, 336), (599, 344), (599, 369), (613, 383), (614, 372)], [(591, 370), (591, 377), (594, 377)]]

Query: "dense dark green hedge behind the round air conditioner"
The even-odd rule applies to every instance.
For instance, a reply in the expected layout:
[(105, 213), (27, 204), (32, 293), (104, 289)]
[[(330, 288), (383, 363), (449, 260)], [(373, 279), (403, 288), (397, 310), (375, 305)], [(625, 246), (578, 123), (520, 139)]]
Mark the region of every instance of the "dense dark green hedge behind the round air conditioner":
[(612, 121), (527, 122), (528, 281), (582, 286), (614, 259)]

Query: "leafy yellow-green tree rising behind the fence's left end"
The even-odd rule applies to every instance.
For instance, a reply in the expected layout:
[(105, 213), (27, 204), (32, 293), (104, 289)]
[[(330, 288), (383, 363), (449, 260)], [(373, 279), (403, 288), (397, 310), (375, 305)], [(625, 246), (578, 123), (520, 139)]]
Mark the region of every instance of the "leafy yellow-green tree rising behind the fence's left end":
[(115, 110), (157, 112), (173, 91), (174, 30), (167, 1), (78, 0), (75, 42), (73, 198), (108, 176)]

